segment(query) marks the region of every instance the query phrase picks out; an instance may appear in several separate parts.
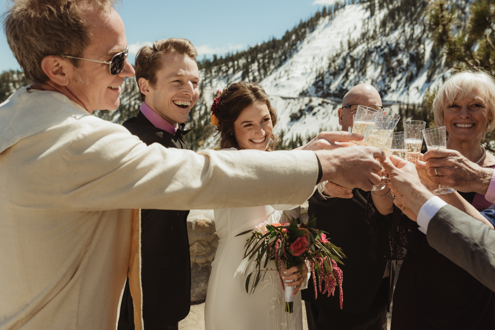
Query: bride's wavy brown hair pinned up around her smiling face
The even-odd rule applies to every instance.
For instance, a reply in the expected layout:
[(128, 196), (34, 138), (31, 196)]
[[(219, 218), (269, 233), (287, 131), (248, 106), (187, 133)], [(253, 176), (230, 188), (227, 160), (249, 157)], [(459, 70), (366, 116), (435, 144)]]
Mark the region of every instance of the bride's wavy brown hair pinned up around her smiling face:
[[(216, 130), (220, 132), (220, 147), (239, 148), (236, 136), (234, 135), (234, 122), (241, 113), (256, 102), (265, 103), (270, 113), (272, 125), (277, 124), (277, 113), (270, 105), (268, 95), (263, 87), (255, 82), (236, 82), (223, 90), (218, 100), (216, 117), (218, 125)], [(272, 133), (271, 142), (268, 144), (268, 151), (272, 151), (280, 142), (280, 139)]]

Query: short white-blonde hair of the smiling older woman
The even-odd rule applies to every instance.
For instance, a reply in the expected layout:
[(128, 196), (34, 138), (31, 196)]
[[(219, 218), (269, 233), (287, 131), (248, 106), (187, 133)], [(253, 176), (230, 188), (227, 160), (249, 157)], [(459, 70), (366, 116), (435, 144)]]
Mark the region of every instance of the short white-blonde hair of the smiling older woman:
[(433, 100), (433, 115), (435, 124), (444, 126), (444, 108), (452, 105), (455, 101), (463, 100), (476, 86), (487, 102), (488, 125), (483, 132), (485, 139), (488, 132), (495, 127), (495, 80), (491, 74), (483, 69), (467, 69), (450, 77), (440, 87)]

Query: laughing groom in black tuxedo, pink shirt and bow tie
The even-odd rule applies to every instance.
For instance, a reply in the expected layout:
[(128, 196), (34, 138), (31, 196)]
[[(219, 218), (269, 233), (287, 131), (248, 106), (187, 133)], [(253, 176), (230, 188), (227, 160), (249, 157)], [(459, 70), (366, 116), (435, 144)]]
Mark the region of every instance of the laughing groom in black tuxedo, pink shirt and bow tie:
[[(136, 81), (143, 102), (124, 122), (146, 144), (187, 149), (182, 136), (199, 96), (198, 53), (191, 41), (170, 38), (144, 46), (136, 56)], [(146, 330), (175, 330), (191, 307), (189, 211), (141, 210), (143, 320)], [(118, 330), (134, 329), (129, 285), (122, 297)]]

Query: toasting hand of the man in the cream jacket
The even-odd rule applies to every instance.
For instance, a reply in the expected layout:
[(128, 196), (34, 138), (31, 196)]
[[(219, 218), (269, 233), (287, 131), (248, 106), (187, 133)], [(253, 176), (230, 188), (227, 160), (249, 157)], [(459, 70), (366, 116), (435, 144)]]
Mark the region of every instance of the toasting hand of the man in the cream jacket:
[(352, 146), (331, 151), (316, 150), (322, 169), (321, 181), (332, 181), (342, 187), (369, 191), (380, 183), (380, 162), (386, 159), (383, 150), (375, 147)]

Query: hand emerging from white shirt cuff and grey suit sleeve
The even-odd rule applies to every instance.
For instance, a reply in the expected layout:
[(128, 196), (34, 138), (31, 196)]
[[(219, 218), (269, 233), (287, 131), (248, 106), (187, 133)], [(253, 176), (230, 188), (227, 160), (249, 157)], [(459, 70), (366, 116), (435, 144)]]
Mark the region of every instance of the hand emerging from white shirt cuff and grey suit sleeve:
[(391, 183), (388, 186), (396, 196), (394, 204), (411, 220), (416, 221), (421, 206), (433, 197), (421, 183), (416, 165), (396, 156), (390, 156), (382, 165), (390, 176)]

